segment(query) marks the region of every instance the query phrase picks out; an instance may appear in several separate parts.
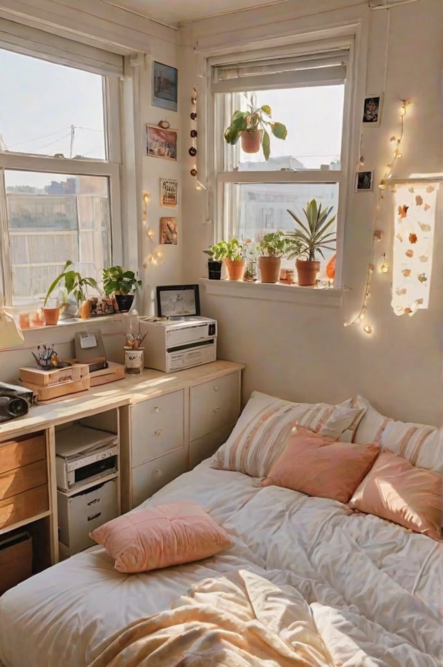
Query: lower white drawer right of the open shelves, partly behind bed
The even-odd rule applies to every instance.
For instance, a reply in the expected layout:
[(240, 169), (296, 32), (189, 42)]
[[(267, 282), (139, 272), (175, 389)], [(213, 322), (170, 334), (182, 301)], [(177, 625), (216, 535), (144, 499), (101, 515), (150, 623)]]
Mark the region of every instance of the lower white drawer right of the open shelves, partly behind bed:
[(188, 470), (186, 452), (166, 454), (132, 470), (132, 507), (150, 498), (162, 486)]

